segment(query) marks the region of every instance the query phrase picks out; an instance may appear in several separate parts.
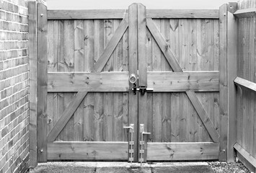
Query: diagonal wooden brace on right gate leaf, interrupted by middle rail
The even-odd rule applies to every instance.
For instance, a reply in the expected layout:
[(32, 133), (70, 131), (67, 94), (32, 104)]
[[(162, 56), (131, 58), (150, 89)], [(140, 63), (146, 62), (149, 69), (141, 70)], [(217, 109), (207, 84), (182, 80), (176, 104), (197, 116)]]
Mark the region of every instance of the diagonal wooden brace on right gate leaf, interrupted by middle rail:
[[(159, 32), (156, 25), (154, 25), (153, 20), (146, 19), (146, 25), (149, 28), (149, 31), (153, 35), (154, 39), (156, 40), (156, 43), (159, 45), (159, 48), (162, 50), (162, 53), (164, 53), (165, 58), (167, 58), (167, 61), (172, 67), (173, 71), (183, 72), (180, 64), (177, 62), (177, 59), (172, 53), (172, 50), (169, 48), (169, 45), (164, 40), (161, 32)], [(211, 136), (212, 140), (214, 142), (219, 142), (219, 134), (216, 132), (213, 123), (208, 117), (206, 110), (204, 110), (203, 105), (200, 103), (198, 97), (196, 97), (195, 92), (186, 92), (186, 94), (187, 97), (189, 97), (192, 105), (195, 107), (196, 112), (198, 112), (198, 115), (202, 120), (203, 125), (205, 125), (206, 129), (208, 130), (208, 133)]]

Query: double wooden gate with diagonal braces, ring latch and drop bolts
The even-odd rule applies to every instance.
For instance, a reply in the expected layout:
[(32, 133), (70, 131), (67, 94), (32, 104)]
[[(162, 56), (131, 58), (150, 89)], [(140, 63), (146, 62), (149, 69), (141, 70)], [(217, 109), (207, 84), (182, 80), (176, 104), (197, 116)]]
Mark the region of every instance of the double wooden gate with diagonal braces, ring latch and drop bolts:
[(47, 27), (39, 161), (219, 159), (219, 10), (50, 10)]

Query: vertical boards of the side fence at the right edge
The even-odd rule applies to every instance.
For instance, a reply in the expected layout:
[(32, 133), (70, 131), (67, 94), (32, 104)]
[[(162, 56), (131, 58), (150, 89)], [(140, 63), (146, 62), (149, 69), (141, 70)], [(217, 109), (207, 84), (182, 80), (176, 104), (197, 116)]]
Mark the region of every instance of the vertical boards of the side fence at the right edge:
[[(239, 1), (238, 4), (238, 10), (256, 8), (255, 1)], [(251, 82), (256, 82), (255, 17), (237, 19), (237, 23), (237, 79), (246, 80), (249, 81), (248, 84), (252, 84)], [(254, 158), (256, 158), (255, 98), (255, 91), (237, 84), (237, 143)]]

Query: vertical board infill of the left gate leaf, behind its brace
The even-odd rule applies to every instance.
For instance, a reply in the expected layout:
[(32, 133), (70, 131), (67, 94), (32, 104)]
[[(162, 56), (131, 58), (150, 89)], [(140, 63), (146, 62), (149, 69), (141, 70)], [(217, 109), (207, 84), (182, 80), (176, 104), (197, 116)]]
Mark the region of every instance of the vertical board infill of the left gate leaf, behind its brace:
[[(48, 72), (55, 72), (52, 75), (54, 78), (58, 72), (65, 72), (64, 76), (69, 76), (70, 73), (66, 72), (71, 72), (76, 76), (77, 72), (94, 71), (94, 63), (107, 47), (120, 22), (120, 19), (48, 20)], [(102, 67), (102, 71), (125, 74), (126, 89), (119, 89), (115, 93), (111, 93), (111, 88), (110, 92), (88, 93), (56, 141), (127, 141), (127, 134), (123, 130), (128, 123), (128, 93), (123, 92), (128, 90), (128, 75), (125, 72), (128, 71), (127, 37), (126, 30)], [(85, 74), (77, 75), (82, 77)], [(64, 76), (63, 79), (69, 81), (69, 77)], [(61, 84), (61, 80), (57, 81)], [(75, 96), (64, 88), (48, 93), (48, 133)]]

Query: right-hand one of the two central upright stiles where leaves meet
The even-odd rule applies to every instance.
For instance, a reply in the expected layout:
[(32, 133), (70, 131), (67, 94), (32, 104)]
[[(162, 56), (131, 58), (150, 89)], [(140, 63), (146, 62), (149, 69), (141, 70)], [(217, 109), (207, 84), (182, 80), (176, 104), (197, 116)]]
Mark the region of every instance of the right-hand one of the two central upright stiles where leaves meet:
[[(143, 4), (138, 4), (138, 86), (147, 85), (147, 58), (146, 58), (146, 7)], [(148, 114), (146, 110), (147, 93), (138, 93), (138, 124), (144, 124), (145, 132), (148, 132)], [(141, 133), (138, 137), (141, 141)], [(147, 147), (147, 135), (144, 138), (144, 162), (146, 162), (146, 147)], [(139, 152), (138, 152), (139, 154)], [(139, 154), (140, 155), (140, 154)]]

